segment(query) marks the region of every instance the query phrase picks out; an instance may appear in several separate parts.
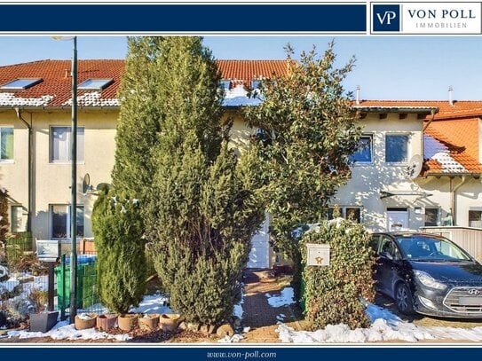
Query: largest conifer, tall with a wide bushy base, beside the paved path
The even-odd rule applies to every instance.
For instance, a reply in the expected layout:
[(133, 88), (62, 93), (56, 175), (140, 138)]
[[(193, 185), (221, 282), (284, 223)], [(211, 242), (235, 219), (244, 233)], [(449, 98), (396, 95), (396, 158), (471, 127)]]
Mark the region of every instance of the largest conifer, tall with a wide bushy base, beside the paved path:
[(156, 67), (163, 118), (146, 200), (148, 247), (172, 307), (217, 325), (233, 313), (236, 280), (264, 216), (258, 157), (228, 149), (220, 75), (201, 38), (166, 37)]

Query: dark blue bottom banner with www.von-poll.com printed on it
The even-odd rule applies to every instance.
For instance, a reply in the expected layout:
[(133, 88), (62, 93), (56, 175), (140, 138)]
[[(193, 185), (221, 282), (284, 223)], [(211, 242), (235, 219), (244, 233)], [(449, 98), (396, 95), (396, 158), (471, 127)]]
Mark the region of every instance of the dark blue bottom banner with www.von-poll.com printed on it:
[[(57, 345), (58, 346), (58, 345)], [(72, 346), (75, 346), (74, 344)], [(77, 344), (78, 346), (78, 344)], [(420, 345), (419, 345), (420, 346)], [(265, 361), (293, 361), (293, 360), (330, 360), (330, 359), (381, 359), (390, 361), (407, 361), (407, 359), (420, 360), (446, 360), (446, 359), (468, 359), (478, 360), (482, 356), (482, 349), (463, 348), (463, 349), (438, 349), (423, 347), (390, 347), (385, 344), (384, 348), (373, 347), (328, 347), (328, 345), (318, 345), (315, 347), (265, 347), (255, 346), (240, 348), (234, 345), (223, 348), (210, 347), (199, 348), (189, 345), (181, 347), (149, 347), (138, 349), (134, 347), (112, 348), (107, 344), (99, 344), (96, 348), (59, 348), (50, 347), (48, 349), (10, 349), (0, 350), (2, 359), (88, 359), (107, 360), (114, 359), (149, 359), (149, 360), (170, 360), (170, 359), (189, 359), (189, 360), (265, 360)], [(8, 358), (7, 358), (8, 357)], [(15, 358), (14, 358), (15, 357)], [(188, 357), (188, 358), (184, 358)]]

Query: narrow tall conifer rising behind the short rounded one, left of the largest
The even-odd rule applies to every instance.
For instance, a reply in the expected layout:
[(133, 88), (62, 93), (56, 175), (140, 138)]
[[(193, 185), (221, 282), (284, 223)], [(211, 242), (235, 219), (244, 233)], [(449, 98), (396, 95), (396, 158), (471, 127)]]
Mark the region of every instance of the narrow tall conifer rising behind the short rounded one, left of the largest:
[[(119, 89), (121, 108), (115, 135), (116, 188), (143, 192), (154, 175), (151, 151), (162, 122), (155, 59), (162, 37), (129, 37), (125, 74)], [(139, 195), (140, 196), (140, 195)]]

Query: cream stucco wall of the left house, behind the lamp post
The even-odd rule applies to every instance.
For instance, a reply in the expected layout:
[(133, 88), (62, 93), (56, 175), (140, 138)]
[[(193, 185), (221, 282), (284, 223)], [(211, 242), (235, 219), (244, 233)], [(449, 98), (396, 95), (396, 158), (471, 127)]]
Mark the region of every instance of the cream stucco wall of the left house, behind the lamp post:
[[(51, 237), (50, 206), (70, 203), (71, 163), (51, 162), (51, 127), (70, 126), (67, 111), (24, 111), (32, 122), (34, 134), (34, 208), (32, 232), (37, 239)], [(110, 182), (114, 166), (115, 124), (117, 111), (79, 109), (78, 126), (84, 127), (83, 161), (77, 164), (77, 203), (84, 206), (84, 236), (91, 237), (91, 209), (94, 195), (81, 191), (83, 176), (89, 173), (91, 184)], [(13, 110), (0, 111), (0, 126), (14, 124), (14, 163), (0, 164), (0, 184), (15, 203), (28, 207), (28, 130)]]

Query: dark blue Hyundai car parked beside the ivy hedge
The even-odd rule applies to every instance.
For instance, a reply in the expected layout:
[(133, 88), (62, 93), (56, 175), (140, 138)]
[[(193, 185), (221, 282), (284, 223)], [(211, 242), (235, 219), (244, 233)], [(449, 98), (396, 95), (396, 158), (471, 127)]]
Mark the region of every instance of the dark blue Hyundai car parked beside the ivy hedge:
[(482, 318), (482, 265), (444, 237), (374, 233), (375, 286), (400, 312)]

